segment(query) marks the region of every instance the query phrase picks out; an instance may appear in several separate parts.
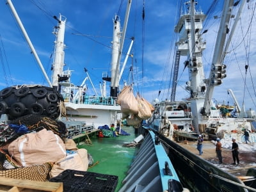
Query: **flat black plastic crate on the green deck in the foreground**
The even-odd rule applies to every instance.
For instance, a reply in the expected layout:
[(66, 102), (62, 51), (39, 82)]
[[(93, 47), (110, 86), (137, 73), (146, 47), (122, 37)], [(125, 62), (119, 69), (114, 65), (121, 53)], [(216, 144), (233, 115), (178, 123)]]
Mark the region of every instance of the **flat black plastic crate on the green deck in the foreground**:
[(118, 182), (115, 175), (65, 170), (53, 177), (51, 182), (63, 182), (63, 191), (114, 192)]

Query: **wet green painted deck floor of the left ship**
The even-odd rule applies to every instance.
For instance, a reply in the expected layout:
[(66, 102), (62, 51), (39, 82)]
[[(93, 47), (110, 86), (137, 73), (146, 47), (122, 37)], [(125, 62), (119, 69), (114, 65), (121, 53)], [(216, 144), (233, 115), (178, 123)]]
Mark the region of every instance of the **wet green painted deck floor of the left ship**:
[[(102, 173), (107, 175), (118, 176), (118, 191), (122, 186), (122, 180), (125, 178), (127, 171), (134, 159), (138, 148), (123, 147), (124, 143), (131, 143), (137, 134), (134, 133), (133, 127), (122, 127), (129, 136), (117, 136), (115, 138), (97, 138), (94, 133), (90, 134), (92, 145), (79, 145), (79, 148), (86, 148), (93, 157), (93, 163), (98, 164), (88, 169), (88, 172)], [(80, 141), (81, 138), (80, 138)], [(83, 140), (84, 141), (84, 140)]]

